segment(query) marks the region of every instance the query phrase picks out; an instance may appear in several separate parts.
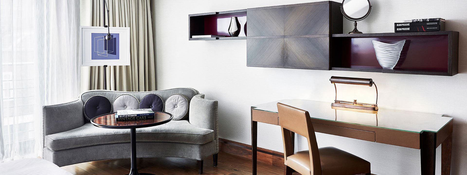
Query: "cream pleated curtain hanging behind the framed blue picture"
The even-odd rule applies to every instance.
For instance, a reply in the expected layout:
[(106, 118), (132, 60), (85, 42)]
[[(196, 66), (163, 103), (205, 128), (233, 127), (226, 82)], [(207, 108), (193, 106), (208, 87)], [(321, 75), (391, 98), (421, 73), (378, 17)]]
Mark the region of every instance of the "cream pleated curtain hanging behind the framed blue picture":
[[(156, 70), (150, 0), (107, 0), (110, 27), (130, 28), (130, 66), (107, 67), (108, 90), (154, 91)], [(103, 0), (81, 0), (81, 25), (103, 26)], [(103, 89), (102, 66), (89, 68), (88, 90)], [(83, 81), (83, 79), (82, 79)], [(87, 85), (87, 84), (85, 84)], [(82, 88), (83, 90), (83, 88)]]

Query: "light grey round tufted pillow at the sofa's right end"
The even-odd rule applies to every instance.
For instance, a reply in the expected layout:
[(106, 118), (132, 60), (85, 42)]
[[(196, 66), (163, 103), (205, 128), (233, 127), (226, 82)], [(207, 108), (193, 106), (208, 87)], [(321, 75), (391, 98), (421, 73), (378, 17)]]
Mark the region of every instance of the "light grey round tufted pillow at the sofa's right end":
[(172, 94), (165, 100), (165, 112), (173, 116), (173, 120), (183, 120), (188, 117), (190, 99), (182, 94)]

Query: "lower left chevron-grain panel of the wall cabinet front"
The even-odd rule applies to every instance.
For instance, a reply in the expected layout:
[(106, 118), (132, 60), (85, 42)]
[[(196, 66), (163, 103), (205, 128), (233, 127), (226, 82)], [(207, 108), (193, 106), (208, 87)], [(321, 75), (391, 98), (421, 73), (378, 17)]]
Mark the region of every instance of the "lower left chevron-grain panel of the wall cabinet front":
[(247, 39), (247, 66), (284, 67), (284, 39)]

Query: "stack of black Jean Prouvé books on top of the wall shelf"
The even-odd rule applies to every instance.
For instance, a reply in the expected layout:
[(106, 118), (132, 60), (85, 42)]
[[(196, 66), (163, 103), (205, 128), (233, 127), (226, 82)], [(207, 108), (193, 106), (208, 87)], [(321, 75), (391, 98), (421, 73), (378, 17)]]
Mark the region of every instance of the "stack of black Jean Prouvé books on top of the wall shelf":
[(404, 20), (401, 23), (394, 23), (394, 32), (444, 31), (445, 21), (443, 18)]

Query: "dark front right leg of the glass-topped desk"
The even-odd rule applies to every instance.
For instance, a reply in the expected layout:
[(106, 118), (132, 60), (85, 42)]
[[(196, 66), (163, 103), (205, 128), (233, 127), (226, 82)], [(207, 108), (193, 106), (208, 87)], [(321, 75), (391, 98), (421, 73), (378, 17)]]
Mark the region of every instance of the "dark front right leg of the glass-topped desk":
[(422, 175), (435, 175), (436, 133), (420, 133), (420, 163)]

